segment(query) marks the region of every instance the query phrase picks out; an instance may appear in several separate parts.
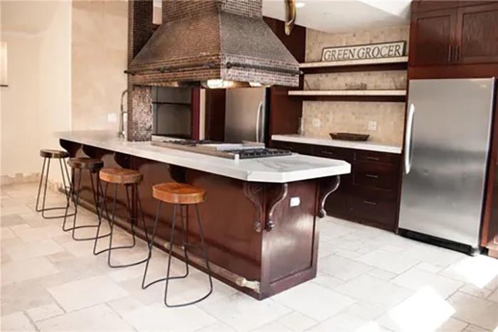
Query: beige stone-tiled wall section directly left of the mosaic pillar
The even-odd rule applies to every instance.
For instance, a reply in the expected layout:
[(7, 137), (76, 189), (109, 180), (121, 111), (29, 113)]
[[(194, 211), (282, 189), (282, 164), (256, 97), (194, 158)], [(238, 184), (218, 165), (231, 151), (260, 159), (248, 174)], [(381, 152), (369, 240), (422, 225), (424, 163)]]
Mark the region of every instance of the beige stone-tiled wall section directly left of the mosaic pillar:
[(73, 130), (113, 129), (127, 88), (127, 1), (73, 1)]

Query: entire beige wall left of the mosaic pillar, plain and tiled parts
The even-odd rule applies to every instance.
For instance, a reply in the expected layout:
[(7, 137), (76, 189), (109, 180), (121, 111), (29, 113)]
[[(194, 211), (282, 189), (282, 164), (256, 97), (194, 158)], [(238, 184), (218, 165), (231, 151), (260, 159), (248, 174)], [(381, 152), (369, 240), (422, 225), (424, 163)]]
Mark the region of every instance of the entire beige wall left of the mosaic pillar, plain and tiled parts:
[(1, 183), (33, 181), (39, 150), (60, 148), (53, 132), (117, 130), (107, 114), (118, 114), (127, 85), (127, 1), (1, 1), (1, 18)]

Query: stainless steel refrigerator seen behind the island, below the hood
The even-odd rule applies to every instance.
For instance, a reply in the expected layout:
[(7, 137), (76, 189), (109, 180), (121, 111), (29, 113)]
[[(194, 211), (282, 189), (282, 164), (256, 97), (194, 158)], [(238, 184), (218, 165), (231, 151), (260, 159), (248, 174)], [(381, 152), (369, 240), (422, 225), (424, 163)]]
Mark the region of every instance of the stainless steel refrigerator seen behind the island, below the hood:
[(267, 88), (244, 87), (226, 90), (225, 141), (267, 143), (268, 111)]

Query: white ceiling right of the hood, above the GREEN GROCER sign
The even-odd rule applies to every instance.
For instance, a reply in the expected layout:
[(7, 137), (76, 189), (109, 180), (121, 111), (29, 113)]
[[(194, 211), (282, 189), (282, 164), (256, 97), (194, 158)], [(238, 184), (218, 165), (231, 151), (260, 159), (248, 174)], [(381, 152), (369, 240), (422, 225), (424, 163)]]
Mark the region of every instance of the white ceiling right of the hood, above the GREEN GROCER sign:
[[(408, 24), (410, 0), (297, 0), (296, 24), (315, 30), (360, 31)], [(263, 0), (263, 15), (283, 20), (285, 0)]]

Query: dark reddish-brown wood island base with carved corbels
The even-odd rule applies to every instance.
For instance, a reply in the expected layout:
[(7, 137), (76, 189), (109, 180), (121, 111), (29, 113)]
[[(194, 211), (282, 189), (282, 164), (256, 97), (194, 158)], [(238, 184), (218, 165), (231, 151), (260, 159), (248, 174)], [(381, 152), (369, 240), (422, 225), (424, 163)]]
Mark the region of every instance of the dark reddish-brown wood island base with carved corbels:
[[(152, 186), (176, 181), (206, 189), (206, 202), (199, 205), (199, 211), (211, 272), (245, 294), (261, 300), (316, 277), (317, 216), (324, 215), (324, 200), (339, 186), (339, 176), (290, 183), (248, 182), (65, 139), (60, 139), (60, 145), (72, 157), (88, 156), (102, 160), (104, 167), (132, 168), (142, 173), (144, 179), (138, 190), (147, 230), (152, 230), (157, 210)], [(91, 207), (88, 174), (83, 173), (81, 184), (80, 199)], [(110, 196), (106, 199), (109, 202)], [(118, 194), (116, 215), (120, 225), (127, 229), (125, 202), (124, 193)], [(136, 205), (136, 200), (133, 202)], [(134, 206), (132, 214), (136, 210)], [(163, 205), (154, 244), (164, 251), (172, 214), (172, 206)], [(196, 223), (189, 220), (191, 216), (194, 211), (187, 213), (186, 231), (189, 241), (197, 242), (198, 229)], [(144, 238), (144, 234), (139, 236)], [(178, 244), (175, 243), (175, 247)], [(183, 259), (183, 250), (176, 247), (174, 255)], [(189, 258), (191, 255), (194, 266), (203, 269), (203, 264), (197, 264), (196, 253), (189, 253)]]

